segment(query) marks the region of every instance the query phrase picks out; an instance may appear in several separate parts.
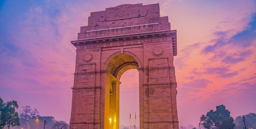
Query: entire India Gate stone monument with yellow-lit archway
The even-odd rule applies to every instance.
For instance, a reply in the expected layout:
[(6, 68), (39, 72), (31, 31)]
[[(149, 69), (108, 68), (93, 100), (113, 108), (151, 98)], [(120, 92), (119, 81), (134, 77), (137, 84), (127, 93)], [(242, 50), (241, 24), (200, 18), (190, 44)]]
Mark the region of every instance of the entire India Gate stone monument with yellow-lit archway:
[(76, 67), (70, 129), (119, 129), (119, 79), (129, 69), (139, 72), (140, 129), (178, 129), (176, 39), (159, 4), (91, 12), (71, 41)]

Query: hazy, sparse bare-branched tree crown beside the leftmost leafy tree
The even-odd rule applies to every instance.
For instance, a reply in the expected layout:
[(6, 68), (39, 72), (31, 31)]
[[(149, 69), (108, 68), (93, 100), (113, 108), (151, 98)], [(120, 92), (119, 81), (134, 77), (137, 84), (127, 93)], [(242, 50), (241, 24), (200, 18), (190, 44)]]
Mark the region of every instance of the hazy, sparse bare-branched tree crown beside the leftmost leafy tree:
[(35, 108), (32, 110), (28, 105), (23, 106), (22, 108), (22, 111), (20, 111), (20, 118), (25, 121), (30, 121), (39, 116), (39, 111)]

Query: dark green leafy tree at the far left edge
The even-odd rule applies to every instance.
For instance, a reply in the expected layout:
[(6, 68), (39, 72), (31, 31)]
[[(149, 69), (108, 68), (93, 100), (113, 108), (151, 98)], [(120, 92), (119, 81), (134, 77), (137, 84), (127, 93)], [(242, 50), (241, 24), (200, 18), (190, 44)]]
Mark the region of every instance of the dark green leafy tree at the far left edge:
[(20, 118), (18, 112), (15, 111), (19, 106), (17, 101), (4, 102), (0, 97), (0, 128), (9, 125), (9, 118), (11, 118), (12, 126), (20, 126)]

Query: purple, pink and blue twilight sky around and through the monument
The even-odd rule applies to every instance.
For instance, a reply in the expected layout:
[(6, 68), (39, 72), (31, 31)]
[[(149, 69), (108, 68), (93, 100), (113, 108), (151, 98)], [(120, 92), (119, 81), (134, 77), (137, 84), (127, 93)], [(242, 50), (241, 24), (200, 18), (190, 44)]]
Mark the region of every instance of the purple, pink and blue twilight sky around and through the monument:
[[(177, 30), (180, 124), (197, 126), (220, 104), (234, 118), (256, 112), (255, 0), (0, 1), (0, 97), (69, 122), (76, 59), (70, 41), (90, 12), (137, 2), (159, 3)], [(139, 115), (137, 70), (121, 82), (120, 125), (128, 126), (129, 112)]]

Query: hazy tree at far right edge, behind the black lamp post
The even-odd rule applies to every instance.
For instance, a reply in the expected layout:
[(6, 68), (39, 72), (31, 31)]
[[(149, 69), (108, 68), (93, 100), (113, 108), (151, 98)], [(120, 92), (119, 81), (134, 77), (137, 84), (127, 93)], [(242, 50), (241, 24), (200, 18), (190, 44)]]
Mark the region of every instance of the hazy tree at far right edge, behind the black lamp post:
[[(246, 128), (256, 128), (256, 113), (249, 113), (247, 115), (244, 115), (245, 117), (245, 123)], [(243, 116), (236, 117), (235, 121), (235, 129), (244, 129), (244, 122), (243, 122)]]

